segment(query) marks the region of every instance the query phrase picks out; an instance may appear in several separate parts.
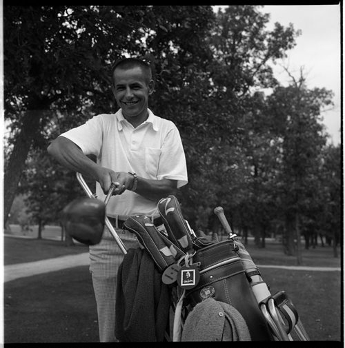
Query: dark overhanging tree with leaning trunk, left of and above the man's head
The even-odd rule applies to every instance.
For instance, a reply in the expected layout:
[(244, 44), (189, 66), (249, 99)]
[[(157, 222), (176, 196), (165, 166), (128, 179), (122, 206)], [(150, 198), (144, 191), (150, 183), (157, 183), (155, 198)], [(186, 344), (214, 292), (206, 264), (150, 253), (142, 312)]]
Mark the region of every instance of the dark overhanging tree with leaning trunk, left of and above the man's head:
[[(12, 152), (6, 161), (5, 218), (30, 149), (46, 150), (50, 139), (115, 106), (112, 61), (150, 53), (166, 57), (157, 68), (160, 95), (167, 95), (171, 81), (178, 82), (178, 63), (184, 66), (201, 52), (208, 14), (210, 6), (6, 7), (5, 115)], [(172, 41), (178, 54), (171, 53)]]

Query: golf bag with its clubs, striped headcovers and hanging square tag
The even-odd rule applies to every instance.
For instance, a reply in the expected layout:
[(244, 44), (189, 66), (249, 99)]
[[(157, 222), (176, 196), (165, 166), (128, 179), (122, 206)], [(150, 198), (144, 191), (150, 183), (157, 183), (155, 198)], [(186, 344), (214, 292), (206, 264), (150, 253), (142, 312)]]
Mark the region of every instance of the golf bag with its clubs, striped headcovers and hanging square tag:
[[(77, 178), (86, 194), (96, 198), (81, 174), (77, 173)], [(106, 202), (110, 195), (111, 192)], [(236, 314), (236, 318), (246, 326), (242, 325), (242, 329), (248, 330), (250, 340), (294, 340), (292, 331), (299, 340), (309, 340), (286, 293), (270, 294), (259, 269), (231, 231), (221, 207), (215, 209), (215, 214), (228, 232), (228, 238), (222, 241), (203, 234), (197, 236), (184, 219), (175, 196), (162, 198), (157, 208), (163, 222), (160, 228), (147, 216), (130, 216), (124, 227), (137, 236), (161, 272), (161, 281), (170, 288), (174, 318), (166, 340), (184, 340), (184, 327), (190, 325), (189, 318), (210, 300), (225, 308), (224, 313)], [(105, 222), (121, 251), (126, 254), (126, 247), (107, 217)], [(234, 323), (231, 320), (233, 318), (230, 322)]]

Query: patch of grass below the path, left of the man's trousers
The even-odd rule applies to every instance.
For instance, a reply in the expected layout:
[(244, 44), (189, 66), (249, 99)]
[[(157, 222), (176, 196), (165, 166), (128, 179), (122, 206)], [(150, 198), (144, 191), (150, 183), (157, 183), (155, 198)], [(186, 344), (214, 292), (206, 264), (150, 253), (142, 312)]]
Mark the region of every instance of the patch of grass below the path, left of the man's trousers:
[(88, 266), (4, 284), (5, 343), (99, 342)]

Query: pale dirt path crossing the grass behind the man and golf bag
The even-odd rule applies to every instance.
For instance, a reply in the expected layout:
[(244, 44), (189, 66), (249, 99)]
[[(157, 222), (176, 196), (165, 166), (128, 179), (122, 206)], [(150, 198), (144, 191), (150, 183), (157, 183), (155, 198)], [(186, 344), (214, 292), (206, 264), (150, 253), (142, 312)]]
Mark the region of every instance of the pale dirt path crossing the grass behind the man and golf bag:
[[(4, 282), (35, 276), (37, 274), (59, 271), (60, 269), (89, 265), (88, 252), (77, 255), (60, 256), (48, 258), (30, 263), (17, 263), (4, 266)], [(293, 269), (300, 271), (336, 271), (340, 272), (340, 267), (303, 267), (303, 266), (276, 266), (276, 265), (257, 265), (260, 268), (280, 268)]]

